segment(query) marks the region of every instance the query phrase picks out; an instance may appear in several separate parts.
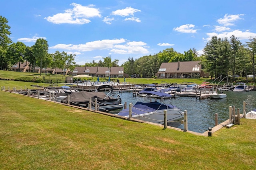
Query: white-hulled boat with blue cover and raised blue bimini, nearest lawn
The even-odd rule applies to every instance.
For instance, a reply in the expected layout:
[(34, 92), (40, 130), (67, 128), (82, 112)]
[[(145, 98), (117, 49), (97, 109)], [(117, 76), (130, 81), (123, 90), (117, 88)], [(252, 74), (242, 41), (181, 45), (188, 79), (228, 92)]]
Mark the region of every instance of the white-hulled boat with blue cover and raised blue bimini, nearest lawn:
[[(157, 92), (148, 92), (156, 95)], [(159, 98), (164, 98), (167, 94), (158, 92)], [(123, 109), (118, 115), (129, 117), (130, 108)], [(183, 118), (183, 111), (172, 104), (162, 102), (136, 102), (132, 108), (132, 118), (150, 121), (153, 123), (164, 123), (164, 110), (167, 111), (167, 121), (175, 121)]]

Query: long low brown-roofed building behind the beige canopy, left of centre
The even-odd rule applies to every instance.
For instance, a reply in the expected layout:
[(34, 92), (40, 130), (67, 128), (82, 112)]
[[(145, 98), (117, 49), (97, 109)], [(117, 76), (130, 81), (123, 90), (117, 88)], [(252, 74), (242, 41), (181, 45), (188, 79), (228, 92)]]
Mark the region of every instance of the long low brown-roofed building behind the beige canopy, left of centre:
[(124, 67), (76, 67), (73, 72), (72, 76), (76, 76), (79, 74), (86, 74), (93, 77), (108, 77), (110, 78), (122, 78), (124, 77)]

